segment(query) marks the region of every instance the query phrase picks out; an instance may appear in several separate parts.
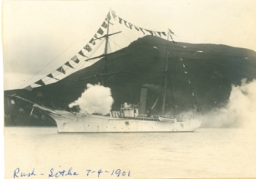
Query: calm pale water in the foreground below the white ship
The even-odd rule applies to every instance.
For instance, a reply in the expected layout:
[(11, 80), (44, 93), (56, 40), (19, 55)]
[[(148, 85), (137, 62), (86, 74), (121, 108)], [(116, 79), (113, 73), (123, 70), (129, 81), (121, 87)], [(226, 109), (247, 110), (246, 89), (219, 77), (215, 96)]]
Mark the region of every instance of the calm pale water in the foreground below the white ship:
[[(5, 178), (14, 178), (16, 168), (20, 168), (19, 174), (32, 172), (33, 168), (37, 174), (19, 178), (49, 178), (51, 168), (55, 172), (71, 167), (79, 175), (59, 178), (117, 178), (119, 173), (118, 178), (256, 177), (256, 133), (251, 130), (56, 131), (55, 127), (5, 127)], [(87, 170), (91, 170), (89, 174)], [(98, 177), (99, 170), (102, 173)], [(117, 174), (111, 175), (113, 170)]]

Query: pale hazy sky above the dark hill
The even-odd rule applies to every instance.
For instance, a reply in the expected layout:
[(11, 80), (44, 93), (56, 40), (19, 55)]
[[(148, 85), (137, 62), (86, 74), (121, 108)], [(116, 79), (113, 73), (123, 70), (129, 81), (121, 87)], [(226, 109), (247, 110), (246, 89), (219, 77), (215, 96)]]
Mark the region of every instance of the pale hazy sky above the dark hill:
[[(178, 42), (226, 44), (256, 51), (254, 0), (5, 1), (4, 90), (35, 87), (34, 82), (41, 78), (46, 84), (56, 82), (44, 77), (82, 50), (101, 27), (110, 8), (136, 26), (155, 31), (170, 28)], [(111, 40), (111, 51), (143, 36), (113, 18), (110, 22), (110, 32), (122, 31)], [(99, 55), (103, 53), (102, 46), (99, 51)], [(75, 71), (69, 69), (67, 75), (70, 72)], [(58, 78), (65, 76), (60, 74)]]

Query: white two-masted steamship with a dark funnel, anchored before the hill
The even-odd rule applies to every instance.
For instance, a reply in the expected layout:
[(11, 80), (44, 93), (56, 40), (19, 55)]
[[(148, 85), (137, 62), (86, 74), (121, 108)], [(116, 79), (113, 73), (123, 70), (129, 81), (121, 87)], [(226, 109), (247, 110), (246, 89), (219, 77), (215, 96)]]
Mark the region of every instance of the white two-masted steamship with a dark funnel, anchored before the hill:
[[(109, 13), (110, 14), (110, 13)], [(115, 15), (115, 14), (114, 14)], [(117, 74), (118, 72), (107, 72), (106, 63), (107, 57), (114, 53), (122, 53), (122, 50), (114, 53), (108, 53), (107, 47), (110, 36), (114, 36), (121, 32), (109, 34), (110, 19), (106, 18), (107, 34), (98, 39), (105, 39), (104, 54), (95, 56), (90, 59), (100, 58), (103, 60), (103, 72), (101, 75), (100, 85), (107, 86), (104, 76), (107, 74)], [(146, 86), (142, 86), (139, 104), (129, 104), (123, 101), (120, 110), (110, 111), (107, 115), (101, 113), (87, 112), (71, 112), (67, 110), (56, 110), (50, 107), (44, 107), (40, 104), (33, 103), (33, 108), (30, 115), (34, 113), (34, 109), (40, 110), (46, 117), (53, 119), (56, 122), (58, 133), (177, 133), (177, 132), (194, 132), (201, 126), (200, 107), (193, 104), (194, 109), (190, 115), (176, 115), (172, 111), (171, 115), (167, 115), (165, 111), (165, 102), (167, 98), (167, 83), (168, 83), (168, 41), (171, 37), (171, 30), (167, 30), (167, 45), (165, 55), (165, 66), (163, 68), (164, 85), (162, 86), (162, 113), (161, 115), (152, 115), (151, 110), (158, 103), (158, 98), (155, 104), (146, 109)], [(174, 42), (174, 41), (173, 41)], [(22, 97), (19, 97), (22, 99)], [(25, 99), (24, 99), (25, 100)]]

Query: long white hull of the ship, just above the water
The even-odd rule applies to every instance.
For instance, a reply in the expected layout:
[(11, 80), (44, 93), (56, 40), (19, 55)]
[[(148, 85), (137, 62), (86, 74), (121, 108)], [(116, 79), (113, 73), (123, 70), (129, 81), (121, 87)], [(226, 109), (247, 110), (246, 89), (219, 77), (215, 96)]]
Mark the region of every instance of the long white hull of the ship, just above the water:
[(71, 113), (50, 113), (50, 116), (56, 121), (58, 133), (177, 133), (194, 132), (201, 125), (201, 121), (196, 119), (161, 122), (149, 117), (125, 119)]

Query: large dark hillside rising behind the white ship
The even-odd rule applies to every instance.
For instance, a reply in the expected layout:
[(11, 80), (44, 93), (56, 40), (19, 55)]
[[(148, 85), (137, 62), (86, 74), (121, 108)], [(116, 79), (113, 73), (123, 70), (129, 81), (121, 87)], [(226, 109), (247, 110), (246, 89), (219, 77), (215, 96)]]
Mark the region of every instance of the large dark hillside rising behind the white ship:
[[(68, 104), (80, 97), (87, 83), (96, 84), (104, 77), (105, 85), (111, 88), (114, 97), (112, 110), (119, 110), (124, 102), (138, 104), (142, 85), (149, 87), (147, 105), (152, 106), (162, 95), (166, 44), (166, 40), (158, 37), (142, 37), (124, 48), (123, 53), (108, 56), (109, 75), (98, 75), (102, 73), (103, 62), (100, 60), (54, 84), (32, 91), (5, 91), (5, 94), (18, 94), (47, 107), (68, 110)], [(187, 75), (179, 56), (184, 59)], [(174, 99), (178, 112), (191, 108), (192, 97), (187, 78), (190, 79), (197, 104), (205, 112), (226, 104), (231, 85), (239, 85), (242, 78), (249, 81), (256, 78), (256, 53), (232, 46), (169, 42), (168, 62), (168, 86), (171, 87), (168, 88), (168, 97)], [(161, 102), (158, 101), (159, 104)], [(172, 105), (168, 101), (167, 109)], [(153, 113), (160, 111), (158, 105)]]

